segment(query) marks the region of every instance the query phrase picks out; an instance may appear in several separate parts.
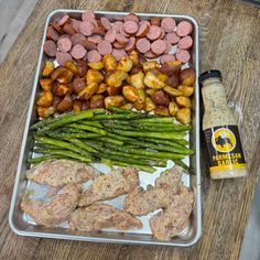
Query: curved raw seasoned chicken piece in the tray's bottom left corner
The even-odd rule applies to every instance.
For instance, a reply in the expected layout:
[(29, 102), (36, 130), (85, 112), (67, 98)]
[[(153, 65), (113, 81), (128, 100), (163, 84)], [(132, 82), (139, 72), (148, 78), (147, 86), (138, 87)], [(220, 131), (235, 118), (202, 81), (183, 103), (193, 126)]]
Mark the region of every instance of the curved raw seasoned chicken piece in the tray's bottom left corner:
[(29, 214), (37, 225), (55, 227), (66, 221), (71, 213), (77, 207), (80, 196), (78, 185), (67, 185), (61, 193), (50, 197), (50, 202), (32, 201), (26, 196), (22, 199), (21, 209)]

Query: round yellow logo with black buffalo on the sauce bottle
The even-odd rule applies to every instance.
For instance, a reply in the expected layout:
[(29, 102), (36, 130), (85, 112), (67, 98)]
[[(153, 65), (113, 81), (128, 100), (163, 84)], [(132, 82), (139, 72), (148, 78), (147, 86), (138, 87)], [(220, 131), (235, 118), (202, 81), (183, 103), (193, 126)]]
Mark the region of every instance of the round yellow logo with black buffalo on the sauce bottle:
[(231, 152), (237, 144), (234, 132), (228, 128), (218, 128), (212, 137), (213, 147), (223, 153)]

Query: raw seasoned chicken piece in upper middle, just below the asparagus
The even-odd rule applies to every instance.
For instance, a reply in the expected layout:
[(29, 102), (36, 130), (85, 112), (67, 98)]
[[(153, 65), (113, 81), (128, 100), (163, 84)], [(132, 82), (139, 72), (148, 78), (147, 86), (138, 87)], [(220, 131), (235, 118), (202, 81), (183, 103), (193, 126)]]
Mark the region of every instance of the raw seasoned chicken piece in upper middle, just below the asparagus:
[(79, 199), (79, 206), (107, 201), (131, 192), (139, 185), (138, 170), (126, 167), (121, 171), (96, 177)]

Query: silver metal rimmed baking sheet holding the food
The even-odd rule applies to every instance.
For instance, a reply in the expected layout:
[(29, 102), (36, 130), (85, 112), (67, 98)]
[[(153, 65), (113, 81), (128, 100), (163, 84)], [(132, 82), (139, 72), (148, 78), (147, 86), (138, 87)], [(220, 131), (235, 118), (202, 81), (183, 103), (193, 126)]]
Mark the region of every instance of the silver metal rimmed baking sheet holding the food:
[[(32, 97), (30, 101), (30, 107), (28, 111), (28, 118), (25, 123), (25, 130), (23, 134), (23, 141), (21, 147), (21, 153), (18, 164), (17, 177), (13, 188), (12, 202), (9, 214), (9, 224), (12, 230), (21, 236), (31, 236), (31, 237), (46, 237), (46, 238), (58, 238), (58, 239), (71, 239), (71, 240), (83, 240), (83, 241), (95, 241), (95, 242), (112, 242), (112, 243), (137, 243), (137, 245), (161, 245), (161, 246), (178, 246), (178, 247), (188, 247), (195, 245), (201, 235), (202, 235), (202, 195), (201, 195), (201, 141), (199, 141), (199, 89), (198, 82), (196, 80), (195, 94), (193, 97), (193, 115), (192, 115), (192, 126), (193, 130), (187, 137), (191, 142), (191, 148), (193, 148), (196, 152), (194, 155), (187, 156), (185, 162), (189, 165), (191, 172), (195, 175), (183, 175), (183, 183), (186, 186), (189, 186), (195, 192), (195, 204), (189, 225), (180, 234), (180, 236), (172, 238), (170, 241), (162, 241), (153, 238), (151, 229), (149, 227), (149, 218), (154, 215), (156, 212), (151, 213), (147, 216), (140, 217), (143, 223), (142, 229), (129, 229), (127, 231), (120, 231), (117, 229), (106, 229), (101, 231), (75, 231), (67, 229), (67, 225), (61, 225), (57, 228), (44, 228), (36, 226), (33, 219), (31, 219), (28, 215), (25, 215), (20, 209), (20, 203), (22, 195), (26, 188), (35, 189), (36, 193), (34, 196), (42, 196), (46, 193), (47, 187), (44, 185), (39, 185), (33, 182), (28, 182), (25, 180), (25, 171), (29, 169), (29, 164), (26, 163), (26, 159), (31, 158), (33, 150), (33, 139), (29, 131), (30, 126), (36, 120), (35, 115), (35, 101), (37, 97), (37, 93), (40, 90), (39, 87), (39, 78), (41, 75), (41, 71), (43, 64), (46, 59), (45, 54), (43, 53), (43, 44), (46, 40), (46, 29), (51, 21), (56, 20), (64, 14), (69, 14), (73, 18), (79, 18), (84, 10), (54, 10), (46, 19), (44, 35), (42, 40), (39, 64), (36, 68), (35, 80), (32, 90)], [(110, 20), (113, 19), (122, 19), (123, 15), (128, 14), (126, 12), (106, 12), (106, 11), (96, 11), (97, 17), (106, 15)], [(198, 42), (198, 25), (196, 21), (192, 17), (187, 15), (174, 15), (174, 14), (153, 14), (153, 13), (137, 13), (141, 19), (150, 19), (151, 17), (172, 17), (176, 21), (187, 20), (193, 23), (193, 39), (194, 45), (192, 50), (192, 62), (191, 65), (195, 67), (197, 75), (199, 74), (199, 42)], [(172, 52), (175, 50), (173, 47)], [(185, 65), (184, 65), (185, 66)], [(104, 173), (108, 173), (109, 169), (102, 164), (94, 164), (98, 170)], [(167, 167), (173, 166), (173, 162), (169, 161)], [(148, 184), (153, 184), (154, 180), (160, 175), (162, 171), (165, 169), (158, 169), (158, 171), (153, 174), (140, 172), (140, 183), (141, 186), (147, 187)], [(89, 185), (87, 183), (86, 185)], [(111, 199), (107, 202), (110, 205), (121, 208), (122, 201), (124, 196), (120, 196), (118, 198)]]

